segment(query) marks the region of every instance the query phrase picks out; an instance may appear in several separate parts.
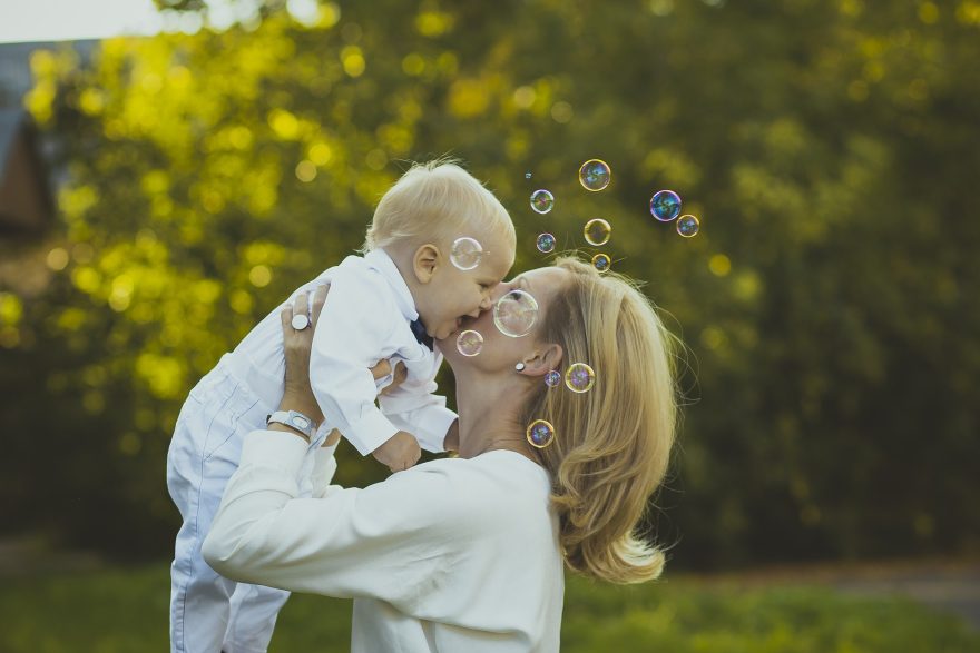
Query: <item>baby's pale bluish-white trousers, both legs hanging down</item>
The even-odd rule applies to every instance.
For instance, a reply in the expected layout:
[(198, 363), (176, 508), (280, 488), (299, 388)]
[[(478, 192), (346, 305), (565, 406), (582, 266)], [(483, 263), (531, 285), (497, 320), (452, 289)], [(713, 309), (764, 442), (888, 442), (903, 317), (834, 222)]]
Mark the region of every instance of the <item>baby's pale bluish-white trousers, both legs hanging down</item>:
[(170, 565), (171, 653), (259, 653), (268, 649), (283, 590), (236, 583), (217, 574), (200, 545), (238, 467), (242, 441), (272, 412), (218, 364), (180, 409), (167, 453), (167, 488), (184, 524)]

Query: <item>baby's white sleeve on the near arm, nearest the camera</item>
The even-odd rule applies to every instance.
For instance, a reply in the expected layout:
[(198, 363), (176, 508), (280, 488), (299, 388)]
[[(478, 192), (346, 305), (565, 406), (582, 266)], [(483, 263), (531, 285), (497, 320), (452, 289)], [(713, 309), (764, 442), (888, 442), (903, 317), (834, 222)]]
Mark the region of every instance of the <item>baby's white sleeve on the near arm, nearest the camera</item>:
[(364, 274), (336, 273), (313, 335), (310, 385), (325, 422), (366, 456), (399, 429), (374, 405), (370, 367), (388, 350), (396, 323), (388, 289)]

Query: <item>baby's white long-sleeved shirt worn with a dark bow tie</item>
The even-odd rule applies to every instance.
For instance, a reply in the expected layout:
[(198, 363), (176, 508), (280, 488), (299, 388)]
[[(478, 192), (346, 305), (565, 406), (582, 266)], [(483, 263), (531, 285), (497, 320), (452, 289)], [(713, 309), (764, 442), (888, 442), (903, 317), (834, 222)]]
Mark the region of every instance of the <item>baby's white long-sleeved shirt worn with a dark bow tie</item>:
[[(321, 434), (336, 427), (362, 455), (398, 431), (414, 435), (424, 449), (443, 451), (455, 413), (445, 407), (445, 397), (433, 394), (442, 354), (412, 335), (409, 325), (419, 313), (394, 261), (381, 249), (363, 258), (349, 256), (293, 297), (326, 283), (330, 294), (310, 355), (310, 385), (325, 416)], [(233, 368), (246, 377), (242, 380), (268, 405), (278, 404), (285, 373), (280, 308), (245, 336), (232, 357)], [(403, 362), (408, 377), (379, 397), (391, 375), (375, 382), (369, 368), (382, 359), (391, 359), (392, 368)]]

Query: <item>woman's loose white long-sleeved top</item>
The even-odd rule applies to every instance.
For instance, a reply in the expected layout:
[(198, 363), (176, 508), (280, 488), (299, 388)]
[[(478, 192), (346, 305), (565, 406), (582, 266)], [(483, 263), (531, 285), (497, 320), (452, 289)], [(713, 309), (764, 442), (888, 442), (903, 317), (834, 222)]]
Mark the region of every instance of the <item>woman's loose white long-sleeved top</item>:
[[(354, 652), (558, 651), (565, 578), (542, 467), (493, 451), (296, 498), (306, 448), (245, 437), (204, 542), (215, 571), (354, 598)], [(332, 456), (317, 457), (322, 482)]]

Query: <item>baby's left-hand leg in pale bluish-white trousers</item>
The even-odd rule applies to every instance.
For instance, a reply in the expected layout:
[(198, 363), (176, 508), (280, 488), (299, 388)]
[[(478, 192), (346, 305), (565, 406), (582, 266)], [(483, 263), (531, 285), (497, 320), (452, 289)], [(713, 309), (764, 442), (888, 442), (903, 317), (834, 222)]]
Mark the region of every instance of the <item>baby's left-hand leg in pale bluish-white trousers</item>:
[(167, 487), (184, 518), (170, 566), (175, 653), (220, 651), (236, 585), (208, 566), (200, 546), (237, 468), (242, 437), (254, 427), (257, 402), (231, 376), (212, 375), (185, 403), (167, 455)]

